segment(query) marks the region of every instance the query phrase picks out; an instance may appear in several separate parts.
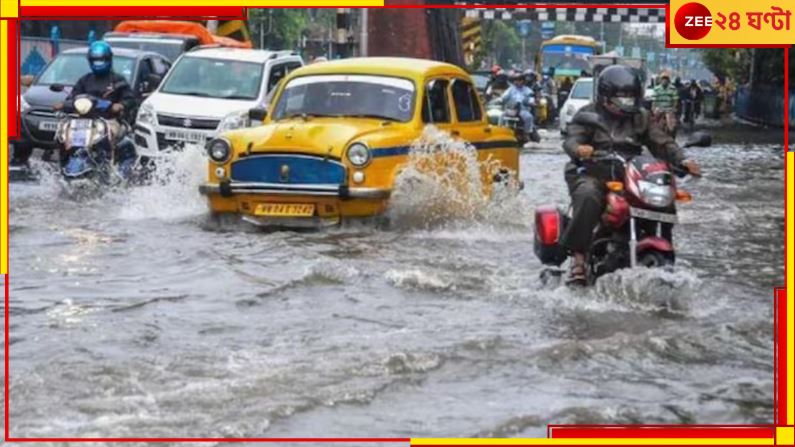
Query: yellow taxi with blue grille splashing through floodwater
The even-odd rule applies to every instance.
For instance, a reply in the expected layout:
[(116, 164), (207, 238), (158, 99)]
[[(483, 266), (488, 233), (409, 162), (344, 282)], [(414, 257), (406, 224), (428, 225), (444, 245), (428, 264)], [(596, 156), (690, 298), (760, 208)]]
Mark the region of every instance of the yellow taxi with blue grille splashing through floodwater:
[(213, 214), (288, 227), (377, 216), (429, 125), (477, 149), (484, 189), (518, 178), (513, 133), (490, 125), (469, 75), (442, 62), (354, 58), (302, 67), (282, 79), (267, 112), (252, 109), (250, 117), (262, 125), (207, 142), (208, 181), (199, 191)]

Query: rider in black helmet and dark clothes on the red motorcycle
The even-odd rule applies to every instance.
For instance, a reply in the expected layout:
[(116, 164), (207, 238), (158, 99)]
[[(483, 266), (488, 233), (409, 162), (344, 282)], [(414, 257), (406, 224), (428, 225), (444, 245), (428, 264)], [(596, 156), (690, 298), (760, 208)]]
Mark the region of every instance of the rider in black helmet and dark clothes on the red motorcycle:
[[(685, 160), (682, 149), (666, 134), (641, 107), (643, 86), (635, 72), (623, 65), (605, 68), (597, 78), (595, 102), (580, 112), (596, 113), (611, 131), (613, 141), (632, 141), (632, 145), (614, 147), (623, 156), (640, 153), (647, 146), (651, 153), (674, 166), (682, 166), (692, 175), (700, 175), (695, 161)], [(571, 157), (565, 168), (566, 183), (571, 195), (573, 214), (561, 236), (561, 245), (572, 254), (569, 283), (582, 284), (587, 280), (586, 254), (591, 246), (594, 229), (604, 211), (607, 188), (605, 179), (586, 175), (579, 170), (580, 162), (591, 158), (595, 149), (609, 144), (610, 136), (603, 130), (569, 124), (563, 149)]]

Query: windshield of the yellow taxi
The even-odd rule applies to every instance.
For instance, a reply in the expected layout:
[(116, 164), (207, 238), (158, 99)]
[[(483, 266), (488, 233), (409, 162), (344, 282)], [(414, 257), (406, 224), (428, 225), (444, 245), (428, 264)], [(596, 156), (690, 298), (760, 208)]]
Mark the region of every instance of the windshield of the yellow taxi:
[(292, 79), (274, 109), (274, 120), (294, 116), (355, 116), (409, 121), (414, 84), (371, 75), (315, 75)]

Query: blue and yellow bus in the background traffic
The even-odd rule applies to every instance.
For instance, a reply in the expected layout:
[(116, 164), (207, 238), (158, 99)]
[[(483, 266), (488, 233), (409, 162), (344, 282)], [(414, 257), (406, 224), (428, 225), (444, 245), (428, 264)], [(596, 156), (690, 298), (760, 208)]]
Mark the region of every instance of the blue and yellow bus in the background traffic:
[(555, 70), (556, 80), (577, 79), (582, 71), (591, 71), (589, 59), (599, 54), (599, 44), (592, 37), (564, 34), (541, 43), (536, 67), (541, 73)]

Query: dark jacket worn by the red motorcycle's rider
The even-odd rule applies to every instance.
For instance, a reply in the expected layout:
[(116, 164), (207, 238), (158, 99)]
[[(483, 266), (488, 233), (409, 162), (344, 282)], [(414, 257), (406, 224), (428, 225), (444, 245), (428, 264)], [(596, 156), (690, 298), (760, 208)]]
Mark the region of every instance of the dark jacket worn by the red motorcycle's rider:
[[(673, 165), (681, 165), (685, 159), (684, 152), (658, 124), (650, 119), (649, 111), (641, 109), (629, 117), (617, 117), (593, 103), (580, 109), (579, 112), (596, 112), (613, 136), (613, 149), (623, 157), (640, 155), (643, 146), (646, 146), (656, 158), (665, 160)], [(608, 150), (610, 136), (602, 129), (577, 124), (576, 115), (566, 128), (566, 140), (563, 149), (572, 160), (577, 159), (577, 146), (590, 144), (595, 150)]]

